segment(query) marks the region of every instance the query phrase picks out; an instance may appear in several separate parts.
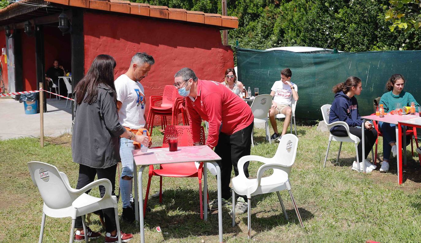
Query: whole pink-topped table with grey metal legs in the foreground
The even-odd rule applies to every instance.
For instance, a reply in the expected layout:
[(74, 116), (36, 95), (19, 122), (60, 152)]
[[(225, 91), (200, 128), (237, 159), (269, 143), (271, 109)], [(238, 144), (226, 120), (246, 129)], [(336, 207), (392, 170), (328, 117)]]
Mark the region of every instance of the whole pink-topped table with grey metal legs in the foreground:
[[(208, 169), (207, 162), (212, 163), (216, 167), (216, 180), (218, 184), (218, 227), (219, 242), (222, 243), (222, 201), (221, 201), (221, 169), (215, 160), (221, 160), (211, 148), (203, 146), (178, 147), (177, 151), (170, 152), (168, 148), (151, 148), (143, 153), (140, 149), (132, 151), (134, 173), (137, 173), (137, 166), (140, 166), (139, 175), (134, 176), (135, 185), (135, 216), (140, 222), (140, 242), (145, 242), (144, 232), (144, 215), (143, 215), (143, 188), (142, 173), (149, 165), (183, 163), (183, 162), (205, 162), (203, 163), (203, 219), (208, 221)], [(139, 191), (139, 193), (138, 193)], [(139, 194), (139, 197), (138, 197)], [(138, 202), (139, 198), (139, 202)], [(140, 213), (140, 215), (139, 215)]]

